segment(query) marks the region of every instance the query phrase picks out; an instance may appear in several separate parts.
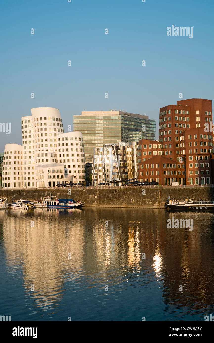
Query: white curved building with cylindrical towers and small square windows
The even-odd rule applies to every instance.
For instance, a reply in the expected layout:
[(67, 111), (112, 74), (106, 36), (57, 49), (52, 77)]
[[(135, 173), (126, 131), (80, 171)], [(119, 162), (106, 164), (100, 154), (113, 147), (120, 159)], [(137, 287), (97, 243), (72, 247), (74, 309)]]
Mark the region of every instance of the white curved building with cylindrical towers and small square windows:
[(31, 113), (22, 117), (22, 145), (5, 145), (2, 186), (41, 188), (85, 182), (82, 133), (64, 133), (56, 108), (37, 107)]

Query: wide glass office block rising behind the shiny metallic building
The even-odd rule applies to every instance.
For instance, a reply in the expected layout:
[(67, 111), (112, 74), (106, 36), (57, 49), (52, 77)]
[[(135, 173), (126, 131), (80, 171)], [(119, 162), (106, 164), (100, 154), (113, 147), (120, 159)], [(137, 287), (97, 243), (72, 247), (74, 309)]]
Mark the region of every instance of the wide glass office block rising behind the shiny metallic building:
[(92, 162), (94, 147), (156, 139), (155, 120), (124, 111), (83, 111), (74, 116), (74, 131), (82, 132), (86, 162)]

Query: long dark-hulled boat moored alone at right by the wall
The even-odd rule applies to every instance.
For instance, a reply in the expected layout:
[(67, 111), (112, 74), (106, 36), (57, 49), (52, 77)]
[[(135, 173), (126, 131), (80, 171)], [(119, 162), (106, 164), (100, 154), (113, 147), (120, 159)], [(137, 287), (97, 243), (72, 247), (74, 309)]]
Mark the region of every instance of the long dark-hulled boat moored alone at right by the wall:
[(176, 199), (169, 199), (165, 205), (172, 211), (214, 211), (214, 201), (193, 201), (191, 199), (179, 201)]

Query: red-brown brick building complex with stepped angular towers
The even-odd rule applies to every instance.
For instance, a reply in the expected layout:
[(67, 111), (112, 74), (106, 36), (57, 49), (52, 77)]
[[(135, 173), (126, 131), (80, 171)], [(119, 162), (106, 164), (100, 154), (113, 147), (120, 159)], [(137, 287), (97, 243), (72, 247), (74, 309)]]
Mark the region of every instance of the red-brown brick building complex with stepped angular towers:
[[(155, 174), (158, 170), (154, 170), (154, 167), (151, 168), (151, 165), (160, 164), (160, 156), (164, 156), (169, 161), (168, 163), (167, 161), (161, 162), (164, 174), (159, 177), (159, 183), (171, 185), (176, 179), (174, 172), (176, 172), (179, 184), (213, 183), (213, 132), (212, 130), (206, 132), (205, 129), (205, 124), (212, 122), (212, 101), (188, 99), (178, 101), (177, 105), (162, 107), (160, 108), (159, 122), (157, 149), (153, 147), (154, 142), (147, 144), (145, 140), (139, 141), (139, 180), (145, 181), (147, 176), (150, 178), (148, 181), (153, 181), (154, 176), (156, 181), (158, 174)], [(154, 161), (148, 162), (147, 160), (152, 156)], [(169, 169), (167, 169), (167, 165)], [(177, 170), (171, 169), (171, 165), (176, 165)], [(154, 171), (155, 174), (153, 174)]]

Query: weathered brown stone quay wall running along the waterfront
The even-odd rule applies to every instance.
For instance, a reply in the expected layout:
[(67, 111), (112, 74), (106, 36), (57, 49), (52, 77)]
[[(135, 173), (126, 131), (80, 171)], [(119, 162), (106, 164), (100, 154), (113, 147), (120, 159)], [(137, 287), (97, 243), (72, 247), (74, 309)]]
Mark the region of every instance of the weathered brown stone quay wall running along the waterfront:
[[(7, 197), (9, 203), (14, 200), (41, 200), (45, 196), (56, 196), (58, 199), (72, 198), (85, 203), (85, 206), (104, 207), (141, 207), (141, 208), (164, 208), (168, 197), (170, 199), (185, 200), (208, 200), (214, 201), (213, 188), (69, 188), (57, 189), (23, 189), (15, 196), (18, 190), (0, 190), (0, 197)], [(144, 192), (143, 192), (144, 193)], [(15, 197), (14, 197), (15, 196)]]

